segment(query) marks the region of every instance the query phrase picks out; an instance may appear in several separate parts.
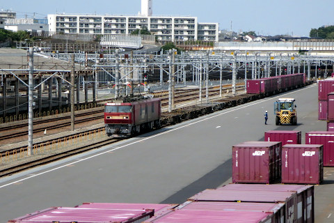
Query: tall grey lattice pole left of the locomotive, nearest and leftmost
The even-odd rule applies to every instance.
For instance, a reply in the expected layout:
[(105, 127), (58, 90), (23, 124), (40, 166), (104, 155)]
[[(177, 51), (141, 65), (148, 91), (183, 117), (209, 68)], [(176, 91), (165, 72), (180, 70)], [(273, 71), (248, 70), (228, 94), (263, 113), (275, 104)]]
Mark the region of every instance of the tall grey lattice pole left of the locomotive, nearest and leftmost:
[(33, 155), (33, 48), (29, 48), (28, 155)]

